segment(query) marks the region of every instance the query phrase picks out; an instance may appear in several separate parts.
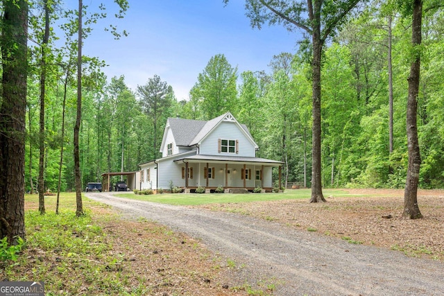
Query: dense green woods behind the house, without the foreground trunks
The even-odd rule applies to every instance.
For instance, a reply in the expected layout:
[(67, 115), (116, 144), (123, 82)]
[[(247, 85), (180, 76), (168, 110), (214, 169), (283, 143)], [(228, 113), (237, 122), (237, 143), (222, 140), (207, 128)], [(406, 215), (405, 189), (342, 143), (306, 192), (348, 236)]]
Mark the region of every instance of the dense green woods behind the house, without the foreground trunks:
[[(321, 175), (325, 187), (405, 186), (407, 78), (413, 57), (411, 16), (404, 17), (398, 6), (384, 1), (368, 4), (352, 14), (336, 37), (327, 41), (322, 53)], [(43, 9), (33, 6), (31, 40), (43, 40)], [(51, 8), (51, 26), (62, 24), (62, 30), (51, 31), (47, 44), (36, 42), (28, 46), (26, 191), (36, 189), (42, 134), (44, 190), (56, 191), (58, 187), (62, 150), (61, 190), (75, 188), (74, 16), (74, 12)], [(56, 32), (62, 33), (56, 36)], [(55, 43), (56, 37), (62, 42)], [(87, 36), (84, 42), (88, 42)], [(425, 3), (418, 97), (422, 188), (444, 187), (443, 48), (444, 12), (439, 6)], [(137, 89), (129, 89), (123, 76), (105, 77), (105, 62), (100, 57), (84, 57), (80, 125), (83, 184), (101, 181), (101, 174), (109, 171), (137, 171), (138, 164), (159, 157), (169, 116), (207, 120), (230, 111), (250, 129), (260, 148), (258, 157), (282, 160), (288, 182), (310, 186), (311, 45), (300, 42), (297, 52), (270, 57), (264, 71), (239, 73), (229, 60), (223, 53), (214, 53), (196, 77), (189, 100), (177, 101), (174, 89), (160, 76), (150, 78)], [(46, 91), (42, 130), (43, 69)]]

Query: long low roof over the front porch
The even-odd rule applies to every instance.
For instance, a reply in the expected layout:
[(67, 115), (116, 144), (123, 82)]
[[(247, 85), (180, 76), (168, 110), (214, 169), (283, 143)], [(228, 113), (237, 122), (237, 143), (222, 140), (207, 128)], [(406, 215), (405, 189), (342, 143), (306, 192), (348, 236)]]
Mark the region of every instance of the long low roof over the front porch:
[(272, 159), (260, 157), (242, 157), (242, 156), (228, 156), (228, 155), (190, 155), (174, 160), (174, 162), (223, 162), (224, 164), (264, 164), (267, 166), (280, 166), (284, 162), (278, 162)]

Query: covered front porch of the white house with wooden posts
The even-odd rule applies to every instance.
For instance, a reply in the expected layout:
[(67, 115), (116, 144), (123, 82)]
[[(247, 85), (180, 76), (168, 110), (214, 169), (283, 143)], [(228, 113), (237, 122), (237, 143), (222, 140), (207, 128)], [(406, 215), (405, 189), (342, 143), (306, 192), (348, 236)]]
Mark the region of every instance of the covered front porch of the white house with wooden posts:
[[(186, 192), (205, 187), (214, 192), (218, 187), (225, 192), (244, 189), (253, 191), (257, 187), (264, 191), (273, 189), (273, 170), (278, 172), (278, 186), (282, 184), (282, 162), (258, 157), (229, 157), (214, 155), (192, 155), (176, 159), (182, 166), (182, 182)], [(183, 183), (182, 183), (183, 184)]]

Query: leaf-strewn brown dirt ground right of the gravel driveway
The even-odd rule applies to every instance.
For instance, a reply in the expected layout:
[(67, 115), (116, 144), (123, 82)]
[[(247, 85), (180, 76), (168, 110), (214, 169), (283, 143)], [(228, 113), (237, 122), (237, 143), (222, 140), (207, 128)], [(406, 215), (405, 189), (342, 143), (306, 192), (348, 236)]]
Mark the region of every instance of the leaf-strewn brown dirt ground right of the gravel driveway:
[(424, 217), (417, 220), (402, 217), (403, 190), (344, 191), (360, 196), (325, 196), (327, 202), (318, 204), (310, 204), (307, 200), (281, 200), (205, 207), (237, 211), (296, 229), (336, 236), (350, 243), (375, 245), (400, 250), (409, 256), (444, 260), (444, 190), (418, 191), (418, 204)]

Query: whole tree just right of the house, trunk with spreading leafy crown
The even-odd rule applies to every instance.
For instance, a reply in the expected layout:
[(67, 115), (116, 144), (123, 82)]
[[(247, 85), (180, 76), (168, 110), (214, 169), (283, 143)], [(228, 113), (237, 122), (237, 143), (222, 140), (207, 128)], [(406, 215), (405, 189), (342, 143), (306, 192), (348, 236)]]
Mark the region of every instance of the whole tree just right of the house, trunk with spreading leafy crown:
[(313, 167), (310, 202), (325, 202), (321, 179), (321, 53), (327, 38), (334, 34), (357, 3), (359, 0), (246, 0), (251, 26), (260, 29), (268, 21), (269, 25), (282, 24), (289, 31), (300, 29), (311, 35)]

